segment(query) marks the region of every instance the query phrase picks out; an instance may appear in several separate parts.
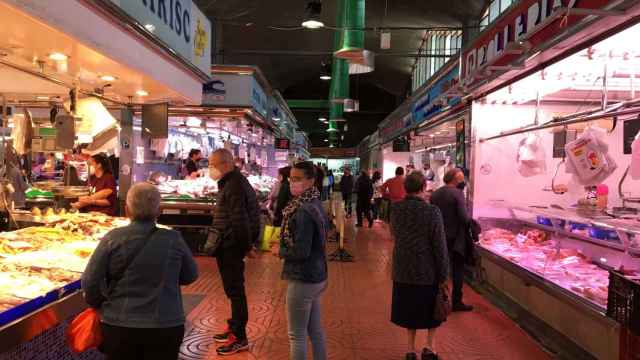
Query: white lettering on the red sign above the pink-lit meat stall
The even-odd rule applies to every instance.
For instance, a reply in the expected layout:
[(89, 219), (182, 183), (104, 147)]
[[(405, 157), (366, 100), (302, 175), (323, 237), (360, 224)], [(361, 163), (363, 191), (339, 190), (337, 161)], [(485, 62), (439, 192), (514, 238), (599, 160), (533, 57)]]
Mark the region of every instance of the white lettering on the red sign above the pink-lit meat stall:
[[(549, 8), (549, 3), (553, 6)], [(567, 8), (575, 8), (578, 0), (566, 0)], [(563, 7), (563, 0), (539, 0), (533, 2), (526, 10), (519, 14), (514, 14), (513, 21), (505, 25), (503, 29), (497, 30), (493, 36), (485, 40), (475, 49), (469, 50), (464, 58), (465, 82), (472, 82), (473, 75), (493, 60), (500, 57), (507, 45), (512, 42), (519, 42), (540, 25), (545, 19), (553, 15), (559, 8)]]

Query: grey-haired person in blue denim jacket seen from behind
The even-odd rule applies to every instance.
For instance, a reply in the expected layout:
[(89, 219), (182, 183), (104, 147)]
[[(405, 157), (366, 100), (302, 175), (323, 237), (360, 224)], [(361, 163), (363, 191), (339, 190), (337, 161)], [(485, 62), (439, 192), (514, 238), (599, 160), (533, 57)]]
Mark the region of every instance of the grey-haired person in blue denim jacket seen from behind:
[(160, 193), (138, 183), (126, 199), (131, 224), (110, 231), (82, 274), (89, 306), (102, 319), (109, 360), (176, 360), (184, 337), (180, 285), (198, 269), (179, 232), (159, 229)]

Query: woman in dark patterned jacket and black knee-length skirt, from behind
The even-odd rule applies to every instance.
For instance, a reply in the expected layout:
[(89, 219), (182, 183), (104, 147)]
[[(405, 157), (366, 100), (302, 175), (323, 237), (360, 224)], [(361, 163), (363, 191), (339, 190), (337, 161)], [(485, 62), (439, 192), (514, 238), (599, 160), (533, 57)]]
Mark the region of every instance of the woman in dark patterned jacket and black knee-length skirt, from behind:
[(407, 329), (407, 360), (417, 359), (416, 330), (427, 330), (422, 360), (437, 359), (434, 319), (436, 296), (448, 277), (449, 259), (440, 211), (422, 199), (425, 190), (422, 172), (408, 175), (407, 196), (394, 204), (391, 213), (393, 248), (393, 292), (391, 322)]

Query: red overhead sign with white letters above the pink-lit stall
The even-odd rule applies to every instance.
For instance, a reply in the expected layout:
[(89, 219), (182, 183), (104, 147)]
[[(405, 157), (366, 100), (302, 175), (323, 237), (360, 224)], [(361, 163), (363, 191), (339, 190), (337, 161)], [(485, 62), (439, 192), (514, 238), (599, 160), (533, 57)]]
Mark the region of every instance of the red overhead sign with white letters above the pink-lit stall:
[[(609, 0), (521, 0), (485, 30), (462, 57), (462, 79), (472, 85), (490, 66), (506, 66), (521, 56), (526, 41), (535, 47), (587, 15), (571, 9), (601, 9)], [(569, 9), (567, 14), (565, 9)]]

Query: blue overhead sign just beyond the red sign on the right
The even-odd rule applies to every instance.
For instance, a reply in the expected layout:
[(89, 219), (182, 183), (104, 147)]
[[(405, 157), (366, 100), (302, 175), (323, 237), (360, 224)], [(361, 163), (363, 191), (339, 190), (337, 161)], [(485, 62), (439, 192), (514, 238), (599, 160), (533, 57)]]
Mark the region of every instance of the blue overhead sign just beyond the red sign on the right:
[(454, 66), (447, 74), (436, 81), (413, 105), (413, 121), (419, 124), (443, 109), (456, 105), (460, 97), (452, 97), (449, 91), (458, 84), (459, 67)]

